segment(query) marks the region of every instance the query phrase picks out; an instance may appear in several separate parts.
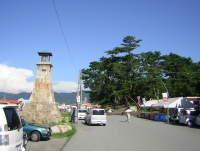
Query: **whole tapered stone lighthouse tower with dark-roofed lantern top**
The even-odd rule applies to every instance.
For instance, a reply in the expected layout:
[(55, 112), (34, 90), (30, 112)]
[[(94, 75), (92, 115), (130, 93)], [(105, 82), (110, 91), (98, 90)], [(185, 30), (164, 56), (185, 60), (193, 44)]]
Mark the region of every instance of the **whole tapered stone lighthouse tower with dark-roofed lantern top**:
[(51, 52), (38, 52), (37, 75), (30, 101), (26, 102), (23, 116), (37, 122), (58, 123), (62, 120), (58, 103), (55, 102), (51, 83)]

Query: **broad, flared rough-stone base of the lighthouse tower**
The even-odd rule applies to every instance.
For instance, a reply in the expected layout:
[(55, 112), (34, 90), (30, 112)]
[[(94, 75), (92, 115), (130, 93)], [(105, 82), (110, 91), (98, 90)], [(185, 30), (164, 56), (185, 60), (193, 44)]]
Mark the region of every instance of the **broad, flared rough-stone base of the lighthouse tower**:
[(22, 116), (39, 123), (58, 123), (62, 121), (58, 103), (56, 102), (26, 102)]

